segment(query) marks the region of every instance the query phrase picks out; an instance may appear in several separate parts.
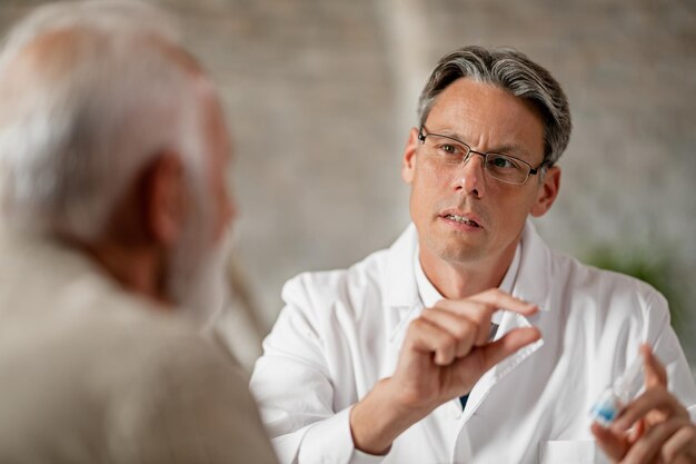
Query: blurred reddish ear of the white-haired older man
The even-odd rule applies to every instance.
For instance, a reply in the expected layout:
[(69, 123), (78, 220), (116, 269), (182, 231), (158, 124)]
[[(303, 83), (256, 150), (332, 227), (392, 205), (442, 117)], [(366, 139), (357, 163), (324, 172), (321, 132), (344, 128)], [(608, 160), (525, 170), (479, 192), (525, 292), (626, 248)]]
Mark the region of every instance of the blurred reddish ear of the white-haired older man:
[(170, 247), (186, 219), (186, 179), (178, 155), (162, 152), (148, 169), (143, 188), (145, 221), (152, 240)]

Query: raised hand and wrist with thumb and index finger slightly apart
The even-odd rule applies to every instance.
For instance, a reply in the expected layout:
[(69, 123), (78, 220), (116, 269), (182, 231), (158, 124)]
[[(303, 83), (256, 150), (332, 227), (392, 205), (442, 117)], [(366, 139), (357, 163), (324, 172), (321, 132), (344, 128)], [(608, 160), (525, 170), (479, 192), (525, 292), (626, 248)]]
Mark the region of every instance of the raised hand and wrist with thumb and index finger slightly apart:
[(538, 308), (497, 288), (461, 300), (441, 300), (411, 322), (396, 372), (356, 404), (350, 428), (358, 450), (388, 451), (391, 442), (432, 409), (471, 391), (493, 366), (539, 339), (535, 327), (489, 342), (498, 309), (529, 316)]

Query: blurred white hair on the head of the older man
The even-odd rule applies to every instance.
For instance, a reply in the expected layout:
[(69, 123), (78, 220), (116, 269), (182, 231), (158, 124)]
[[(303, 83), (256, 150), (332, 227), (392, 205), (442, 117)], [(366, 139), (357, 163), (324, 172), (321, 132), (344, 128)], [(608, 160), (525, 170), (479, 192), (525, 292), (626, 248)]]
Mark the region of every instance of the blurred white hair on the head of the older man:
[(177, 28), (152, 6), (68, 1), (30, 13), (0, 52), (4, 220), (93, 239), (162, 150), (180, 155), (202, 185), (197, 75)]

